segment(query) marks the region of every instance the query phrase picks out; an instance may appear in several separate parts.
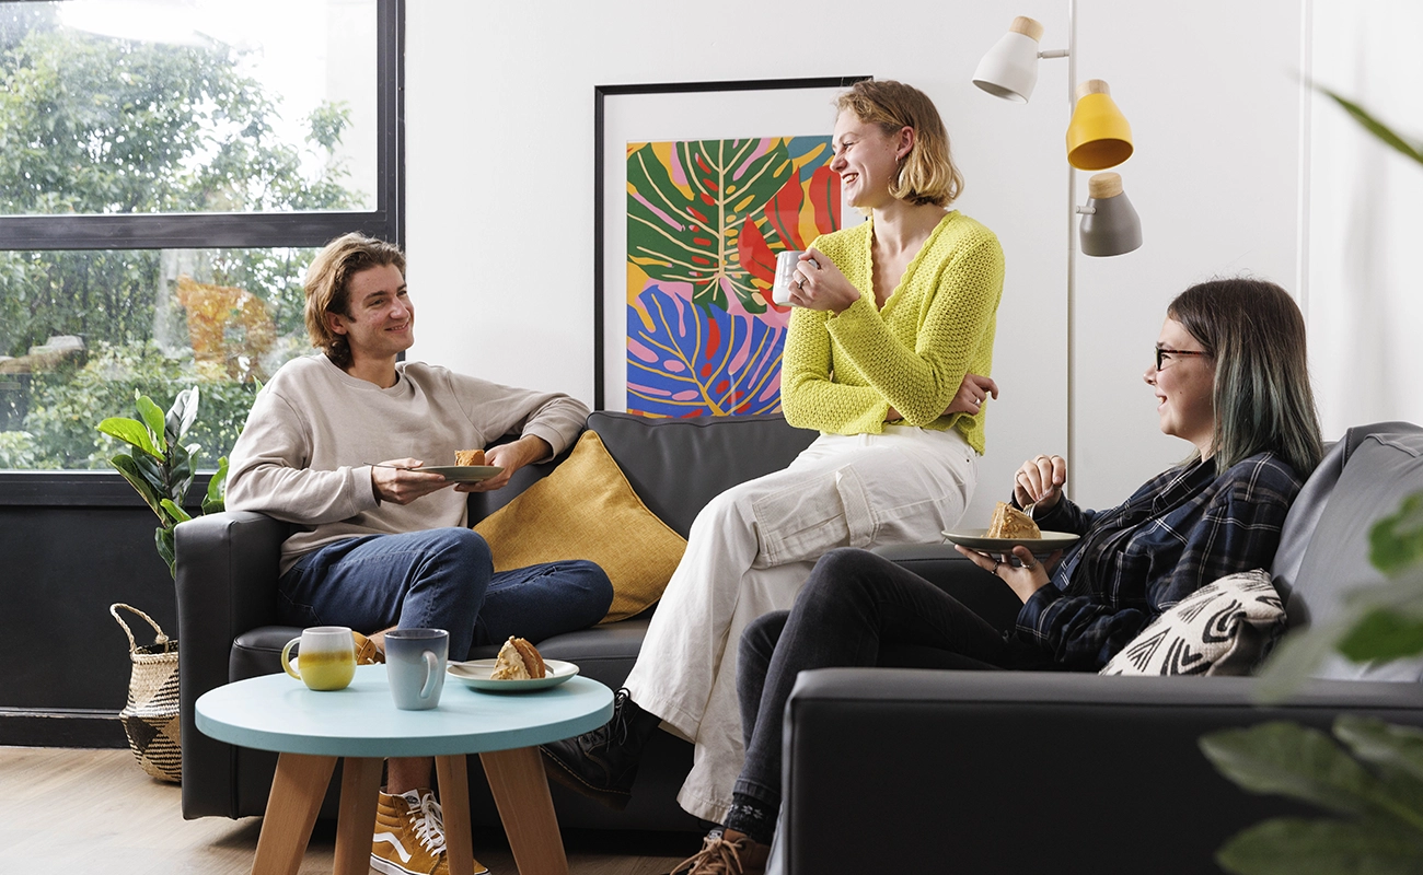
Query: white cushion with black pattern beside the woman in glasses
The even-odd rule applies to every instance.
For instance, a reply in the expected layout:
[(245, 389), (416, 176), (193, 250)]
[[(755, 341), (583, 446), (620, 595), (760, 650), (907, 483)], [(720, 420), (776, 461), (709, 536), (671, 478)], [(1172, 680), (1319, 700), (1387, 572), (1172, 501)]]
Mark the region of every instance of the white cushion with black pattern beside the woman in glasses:
[(1284, 630), (1285, 608), (1269, 573), (1247, 571), (1158, 616), (1101, 674), (1249, 674)]

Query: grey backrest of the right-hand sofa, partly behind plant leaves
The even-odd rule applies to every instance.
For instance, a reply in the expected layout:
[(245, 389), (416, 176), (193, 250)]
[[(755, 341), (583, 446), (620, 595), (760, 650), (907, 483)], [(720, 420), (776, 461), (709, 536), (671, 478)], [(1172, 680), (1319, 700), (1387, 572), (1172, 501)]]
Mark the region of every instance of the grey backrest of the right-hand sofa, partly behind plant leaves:
[[(1299, 571), (1289, 580), (1285, 610), (1291, 625), (1325, 625), (1336, 619), (1345, 599), (1360, 586), (1382, 582), (1369, 562), (1369, 531), (1399, 509), (1403, 498), (1423, 491), (1423, 431), (1370, 434), (1349, 454), (1329, 501), (1308, 535)], [(1296, 508), (1298, 499), (1296, 499)], [(1291, 518), (1296, 514), (1291, 511)], [(1289, 521), (1286, 521), (1289, 534)], [(1423, 660), (1350, 663), (1331, 657), (1316, 677), (1358, 680), (1423, 680)]]

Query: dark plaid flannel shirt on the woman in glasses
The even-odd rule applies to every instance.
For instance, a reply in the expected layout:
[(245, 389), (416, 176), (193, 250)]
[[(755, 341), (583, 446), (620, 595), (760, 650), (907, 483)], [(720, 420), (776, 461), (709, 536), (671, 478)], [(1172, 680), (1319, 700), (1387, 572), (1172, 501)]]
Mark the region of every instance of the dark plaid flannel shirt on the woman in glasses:
[(1302, 484), (1284, 460), (1261, 452), (1220, 477), (1214, 461), (1171, 468), (1110, 511), (1059, 501), (1039, 525), (1081, 538), (1023, 605), (1019, 637), (1067, 669), (1100, 669), (1201, 586), (1268, 569)]

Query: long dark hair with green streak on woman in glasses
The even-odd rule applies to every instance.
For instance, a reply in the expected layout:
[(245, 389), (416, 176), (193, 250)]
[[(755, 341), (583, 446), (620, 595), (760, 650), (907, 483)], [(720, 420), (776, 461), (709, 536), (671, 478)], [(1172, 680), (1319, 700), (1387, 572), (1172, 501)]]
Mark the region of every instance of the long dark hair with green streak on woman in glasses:
[(1217, 279), (1175, 296), (1167, 316), (1215, 361), (1215, 470), (1272, 451), (1308, 477), (1323, 457), (1295, 299), (1259, 279)]

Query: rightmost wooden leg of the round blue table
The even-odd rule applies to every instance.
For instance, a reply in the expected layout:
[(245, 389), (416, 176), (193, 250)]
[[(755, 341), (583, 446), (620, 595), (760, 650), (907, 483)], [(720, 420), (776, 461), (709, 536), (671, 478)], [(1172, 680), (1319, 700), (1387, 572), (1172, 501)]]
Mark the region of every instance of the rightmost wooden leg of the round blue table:
[(536, 747), (480, 754), (519, 875), (568, 875), (564, 838)]

